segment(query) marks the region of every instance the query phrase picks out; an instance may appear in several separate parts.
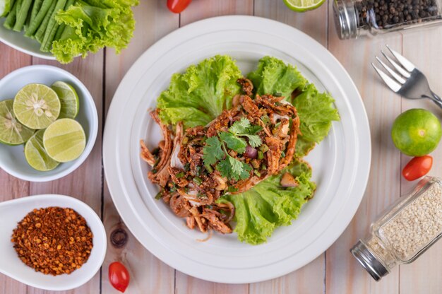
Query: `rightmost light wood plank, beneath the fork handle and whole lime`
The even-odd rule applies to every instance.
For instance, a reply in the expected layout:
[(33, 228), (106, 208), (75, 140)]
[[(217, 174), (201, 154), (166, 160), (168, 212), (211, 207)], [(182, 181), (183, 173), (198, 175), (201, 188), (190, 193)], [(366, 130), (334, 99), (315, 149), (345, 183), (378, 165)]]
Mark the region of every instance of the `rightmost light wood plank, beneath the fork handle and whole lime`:
[[(442, 95), (442, 28), (427, 29), (425, 33), (410, 32), (403, 36), (402, 54), (410, 59), (429, 80), (434, 93)], [(399, 48), (400, 49), (400, 48)], [(420, 54), (417, 54), (419, 52)], [(441, 109), (430, 100), (402, 99), (402, 112), (410, 108), (424, 108), (442, 119)], [(431, 153), (433, 156), (433, 169), (429, 175), (442, 177), (442, 145)], [(402, 155), (402, 165), (405, 166), (410, 157)], [(402, 178), (402, 194), (409, 191), (414, 182), (407, 182)], [(442, 293), (442, 242), (434, 244), (412, 264), (400, 266), (400, 293)]]

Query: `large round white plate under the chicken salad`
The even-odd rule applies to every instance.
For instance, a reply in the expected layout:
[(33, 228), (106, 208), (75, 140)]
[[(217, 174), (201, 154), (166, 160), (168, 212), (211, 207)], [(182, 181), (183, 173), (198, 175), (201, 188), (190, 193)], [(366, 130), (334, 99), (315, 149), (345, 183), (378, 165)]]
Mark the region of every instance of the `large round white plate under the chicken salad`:
[[(264, 245), (251, 246), (235, 234), (189, 230), (161, 201), (146, 179), (139, 140), (152, 148), (161, 139), (148, 109), (172, 73), (215, 54), (229, 54), (243, 73), (265, 55), (299, 70), (328, 90), (341, 121), (307, 160), (318, 184), (314, 198), (292, 225), (278, 228)], [(133, 64), (115, 93), (104, 131), (104, 170), (115, 206), (133, 235), (156, 257), (191, 276), (220, 283), (251, 283), (285, 275), (309, 263), (345, 230), (366, 188), (371, 142), (364, 105), (350, 76), (318, 42), (288, 25), (251, 16), (224, 16), (187, 25), (150, 47)], [(342, 250), (347, 251), (347, 248)]]

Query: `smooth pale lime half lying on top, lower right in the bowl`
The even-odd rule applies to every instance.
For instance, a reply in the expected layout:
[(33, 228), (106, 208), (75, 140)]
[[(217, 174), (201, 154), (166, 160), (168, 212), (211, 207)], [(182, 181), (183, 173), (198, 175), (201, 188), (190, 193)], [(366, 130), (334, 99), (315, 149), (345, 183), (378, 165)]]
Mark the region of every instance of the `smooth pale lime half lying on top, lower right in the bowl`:
[(47, 127), (43, 145), (52, 159), (66, 163), (77, 159), (85, 150), (85, 131), (76, 120), (59, 119)]

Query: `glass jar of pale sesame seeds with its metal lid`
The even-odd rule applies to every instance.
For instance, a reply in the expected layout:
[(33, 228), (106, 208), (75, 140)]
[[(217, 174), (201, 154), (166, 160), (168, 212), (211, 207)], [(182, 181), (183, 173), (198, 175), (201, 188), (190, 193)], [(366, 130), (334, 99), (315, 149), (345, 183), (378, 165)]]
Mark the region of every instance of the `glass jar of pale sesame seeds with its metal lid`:
[(350, 252), (379, 281), (396, 264), (417, 259), (441, 235), (442, 180), (424, 177), (371, 224), (369, 235)]

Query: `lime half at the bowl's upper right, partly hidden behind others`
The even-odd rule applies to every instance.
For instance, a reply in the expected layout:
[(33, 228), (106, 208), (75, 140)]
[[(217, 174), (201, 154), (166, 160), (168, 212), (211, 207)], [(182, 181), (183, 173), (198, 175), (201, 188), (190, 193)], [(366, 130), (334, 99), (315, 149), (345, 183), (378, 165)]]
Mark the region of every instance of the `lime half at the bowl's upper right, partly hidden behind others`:
[(51, 88), (59, 96), (61, 102), (59, 119), (75, 119), (80, 106), (76, 90), (64, 82), (55, 82)]

